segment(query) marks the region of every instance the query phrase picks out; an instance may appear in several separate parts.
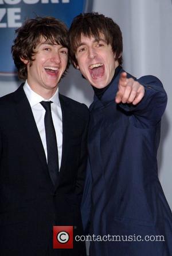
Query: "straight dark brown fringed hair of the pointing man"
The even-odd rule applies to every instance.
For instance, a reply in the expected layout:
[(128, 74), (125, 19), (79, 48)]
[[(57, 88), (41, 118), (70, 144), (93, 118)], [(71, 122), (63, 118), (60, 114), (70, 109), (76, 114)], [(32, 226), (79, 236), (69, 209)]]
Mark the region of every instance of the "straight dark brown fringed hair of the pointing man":
[(116, 54), (116, 60), (122, 64), (123, 38), (122, 32), (111, 18), (99, 13), (81, 13), (76, 16), (69, 29), (69, 52), (71, 62), (74, 67), (77, 65), (75, 57), (76, 49), (81, 41), (81, 35), (93, 36), (100, 40), (100, 35), (104, 35), (107, 44), (111, 44), (112, 51)]

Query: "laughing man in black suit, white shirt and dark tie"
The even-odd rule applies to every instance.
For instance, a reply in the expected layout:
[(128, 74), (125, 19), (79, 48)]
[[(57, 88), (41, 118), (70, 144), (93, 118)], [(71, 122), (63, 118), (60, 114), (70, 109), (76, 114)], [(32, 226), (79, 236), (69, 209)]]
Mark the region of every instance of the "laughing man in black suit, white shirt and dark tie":
[(53, 226), (83, 234), (89, 111), (58, 93), (69, 66), (67, 27), (53, 17), (28, 20), (12, 54), (26, 81), (0, 99), (0, 254), (85, 255), (84, 242), (53, 249)]

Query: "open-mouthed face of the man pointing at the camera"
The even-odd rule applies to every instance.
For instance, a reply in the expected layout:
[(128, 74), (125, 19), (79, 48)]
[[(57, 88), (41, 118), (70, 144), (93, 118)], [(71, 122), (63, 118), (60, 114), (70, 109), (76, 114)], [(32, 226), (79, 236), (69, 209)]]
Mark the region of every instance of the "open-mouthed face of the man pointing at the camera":
[(115, 68), (119, 66), (110, 44), (100, 35), (97, 41), (94, 37), (81, 35), (76, 49), (77, 68), (92, 86), (100, 89), (107, 86), (114, 77)]

